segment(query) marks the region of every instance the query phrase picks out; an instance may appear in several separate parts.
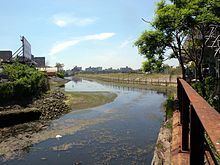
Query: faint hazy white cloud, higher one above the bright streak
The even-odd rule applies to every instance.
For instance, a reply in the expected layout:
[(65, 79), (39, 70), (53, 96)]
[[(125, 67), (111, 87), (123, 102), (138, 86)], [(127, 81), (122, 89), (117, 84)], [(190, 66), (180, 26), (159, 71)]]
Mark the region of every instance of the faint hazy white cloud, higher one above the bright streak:
[(86, 26), (94, 23), (96, 20), (97, 18), (81, 18), (72, 14), (56, 14), (52, 18), (52, 22), (59, 27), (66, 27), (68, 25)]

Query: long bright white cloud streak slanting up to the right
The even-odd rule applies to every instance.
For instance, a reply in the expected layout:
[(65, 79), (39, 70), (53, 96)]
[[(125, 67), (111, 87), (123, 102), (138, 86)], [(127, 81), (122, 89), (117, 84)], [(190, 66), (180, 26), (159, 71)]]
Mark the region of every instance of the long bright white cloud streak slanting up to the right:
[(100, 33), (100, 34), (82, 36), (82, 37), (74, 38), (68, 41), (63, 41), (63, 42), (55, 44), (50, 49), (49, 55), (55, 55), (71, 46), (78, 44), (79, 42), (90, 41), (90, 40), (105, 40), (105, 39), (113, 37), (114, 35), (115, 33)]

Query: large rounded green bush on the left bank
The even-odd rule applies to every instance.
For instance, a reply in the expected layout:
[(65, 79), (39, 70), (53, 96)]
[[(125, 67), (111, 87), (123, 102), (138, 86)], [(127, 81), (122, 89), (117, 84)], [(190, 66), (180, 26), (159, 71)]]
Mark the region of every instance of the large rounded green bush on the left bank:
[(49, 89), (47, 75), (34, 67), (18, 62), (2, 67), (7, 81), (0, 83), (0, 105), (29, 102)]

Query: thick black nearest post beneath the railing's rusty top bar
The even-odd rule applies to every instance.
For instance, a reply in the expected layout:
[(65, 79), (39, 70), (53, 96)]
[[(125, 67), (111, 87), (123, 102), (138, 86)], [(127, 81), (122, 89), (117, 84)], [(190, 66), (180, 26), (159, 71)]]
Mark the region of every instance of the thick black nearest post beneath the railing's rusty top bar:
[(190, 164), (204, 164), (204, 129), (193, 108), (190, 106)]

